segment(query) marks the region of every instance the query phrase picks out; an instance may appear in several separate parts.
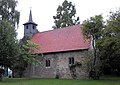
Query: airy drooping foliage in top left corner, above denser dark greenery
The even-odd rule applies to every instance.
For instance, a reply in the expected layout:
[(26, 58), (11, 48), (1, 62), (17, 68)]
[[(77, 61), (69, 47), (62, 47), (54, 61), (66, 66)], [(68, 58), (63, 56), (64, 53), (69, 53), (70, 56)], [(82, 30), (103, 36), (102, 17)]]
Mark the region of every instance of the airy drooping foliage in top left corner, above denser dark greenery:
[(15, 9), (16, 6), (16, 0), (0, 0), (0, 19), (6, 19), (14, 26), (16, 22), (19, 24), (20, 13)]

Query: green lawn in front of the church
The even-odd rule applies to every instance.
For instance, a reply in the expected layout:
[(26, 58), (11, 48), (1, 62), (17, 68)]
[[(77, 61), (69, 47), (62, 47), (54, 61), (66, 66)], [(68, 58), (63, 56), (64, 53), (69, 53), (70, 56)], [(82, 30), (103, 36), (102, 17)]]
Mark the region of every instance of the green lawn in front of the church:
[(0, 85), (120, 85), (120, 77), (101, 80), (4, 79)]

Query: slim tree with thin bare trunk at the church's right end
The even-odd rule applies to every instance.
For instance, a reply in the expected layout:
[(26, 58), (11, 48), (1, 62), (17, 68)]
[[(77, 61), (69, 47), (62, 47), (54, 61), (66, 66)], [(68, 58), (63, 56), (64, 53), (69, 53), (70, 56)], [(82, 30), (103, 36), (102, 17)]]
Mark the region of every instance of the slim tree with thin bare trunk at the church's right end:
[(94, 59), (91, 70), (96, 70), (97, 48), (96, 41), (101, 38), (104, 21), (102, 15), (96, 15), (82, 23), (83, 34), (87, 38), (91, 38), (94, 51)]

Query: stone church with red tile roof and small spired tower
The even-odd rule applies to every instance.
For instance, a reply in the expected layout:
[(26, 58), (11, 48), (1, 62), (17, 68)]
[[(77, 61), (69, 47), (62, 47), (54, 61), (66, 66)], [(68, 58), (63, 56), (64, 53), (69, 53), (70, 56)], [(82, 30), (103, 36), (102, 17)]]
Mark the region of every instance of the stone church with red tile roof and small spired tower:
[(90, 40), (85, 39), (80, 25), (38, 32), (37, 24), (29, 20), (24, 24), (24, 37), (28, 37), (40, 46), (34, 53), (41, 65), (30, 65), (25, 71), (26, 77), (85, 79), (88, 77), (87, 51)]

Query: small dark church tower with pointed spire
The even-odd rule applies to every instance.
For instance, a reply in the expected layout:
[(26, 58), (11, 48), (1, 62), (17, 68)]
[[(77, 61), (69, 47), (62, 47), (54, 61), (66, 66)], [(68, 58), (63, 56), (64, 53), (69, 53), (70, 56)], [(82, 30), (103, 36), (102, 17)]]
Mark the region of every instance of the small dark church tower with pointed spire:
[(32, 20), (32, 12), (30, 10), (29, 20), (28, 22), (24, 23), (24, 37), (31, 39), (32, 36), (38, 32), (37, 24)]

